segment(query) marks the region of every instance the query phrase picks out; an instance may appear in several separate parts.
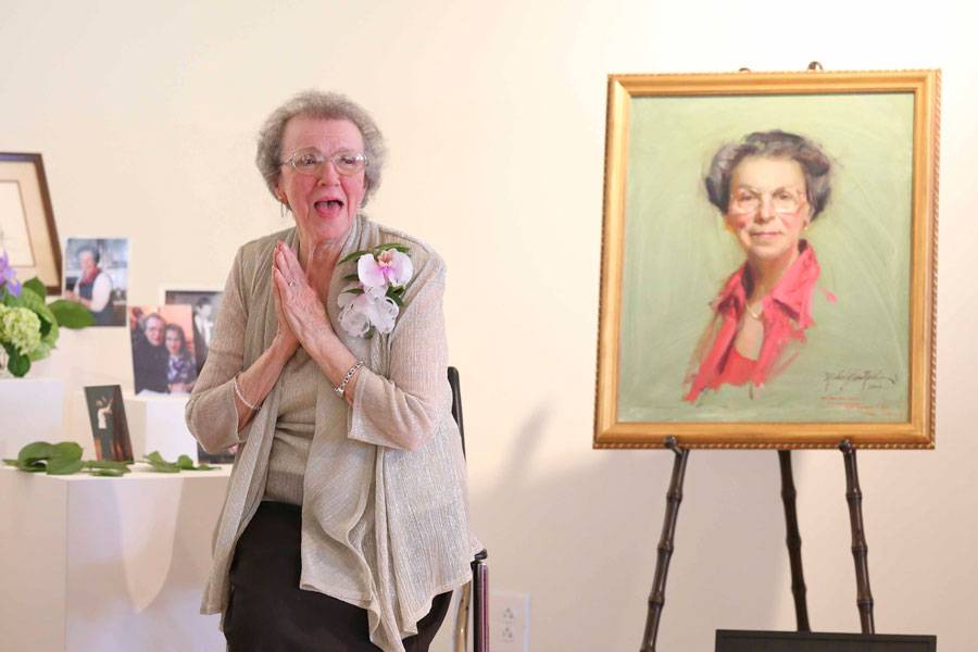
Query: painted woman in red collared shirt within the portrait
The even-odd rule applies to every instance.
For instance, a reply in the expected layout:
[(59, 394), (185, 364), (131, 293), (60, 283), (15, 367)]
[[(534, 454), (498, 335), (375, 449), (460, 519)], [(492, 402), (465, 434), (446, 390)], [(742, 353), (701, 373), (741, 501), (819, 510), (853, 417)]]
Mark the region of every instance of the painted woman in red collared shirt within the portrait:
[(817, 146), (779, 130), (750, 134), (714, 155), (706, 192), (747, 261), (712, 304), (714, 318), (693, 356), (687, 401), (723, 385), (753, 392), (794, 360), (814, 326), (811, 306), (820, 274), (815, 251), (801, 236), (828, 202), (830, 171)]

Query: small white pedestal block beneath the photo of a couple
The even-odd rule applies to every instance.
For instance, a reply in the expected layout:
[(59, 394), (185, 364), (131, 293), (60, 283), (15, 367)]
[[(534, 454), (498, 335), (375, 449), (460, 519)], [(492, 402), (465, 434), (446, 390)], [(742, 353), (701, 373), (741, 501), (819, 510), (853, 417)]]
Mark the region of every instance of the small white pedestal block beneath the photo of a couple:
[(126, 419), (133, 454), (141, 460), (147, 453), (160, 451), (164, 460), (173, 462), (180, 455), (197, 460), (197, 440), (187, 429), (184, 411), (189, 397), (136, 396), (126, 397)]

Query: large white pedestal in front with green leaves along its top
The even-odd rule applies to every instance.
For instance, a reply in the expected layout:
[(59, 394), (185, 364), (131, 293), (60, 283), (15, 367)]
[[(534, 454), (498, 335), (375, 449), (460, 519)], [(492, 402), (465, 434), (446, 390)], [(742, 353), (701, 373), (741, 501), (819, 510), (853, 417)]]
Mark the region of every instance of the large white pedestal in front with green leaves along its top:
[(0, 648), (224, 650), (199, 609), (229, 474), (0, 467)]

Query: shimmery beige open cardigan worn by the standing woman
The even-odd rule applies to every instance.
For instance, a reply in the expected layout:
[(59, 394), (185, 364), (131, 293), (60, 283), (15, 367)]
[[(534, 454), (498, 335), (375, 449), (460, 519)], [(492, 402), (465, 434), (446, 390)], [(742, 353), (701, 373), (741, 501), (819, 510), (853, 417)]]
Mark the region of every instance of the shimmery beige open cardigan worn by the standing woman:
[[(278, 239), (292, 248), (298, 243), (296, 229), (289, 229), (238, 251), (208, 363), (187, 403), (187, 424), (205, 450), (242, 444), (214, 534), (203, 613), (227, 606), (235, 543), (264, 494), (281, 378), (241, 432), (236, 431), (231, 379), (275, 336), (271, 261)], [(435, 595), (467, 581), (473, 554), (481, 549), (468, 527), (465, 461), (446, 376), (444, 263), (426, 244), (363, 215), (341, 256), (391, 241), (411, 248), (415, 275), (389, 335), (355, 338), (338, 326), (336, 300), (354, 263), (334, 274), (325, 302), (337, 335), (366, 366), (352, 406), (316, 374), (300, 576), (302, 589), (367, 610), (371, 640), (387, 652), (403, 651), (401, 639), (416, 634)], [(405, 439), (413, 452), (398, 443)]]

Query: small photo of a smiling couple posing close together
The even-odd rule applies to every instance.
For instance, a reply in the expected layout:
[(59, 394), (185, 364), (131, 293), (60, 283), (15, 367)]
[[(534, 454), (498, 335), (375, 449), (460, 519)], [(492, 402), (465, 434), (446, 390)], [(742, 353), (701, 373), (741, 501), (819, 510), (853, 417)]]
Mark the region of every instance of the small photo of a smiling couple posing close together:
[(189, 394), (197, 383), (189, 305), (129, 309), (133, 388), (137, 394)]

